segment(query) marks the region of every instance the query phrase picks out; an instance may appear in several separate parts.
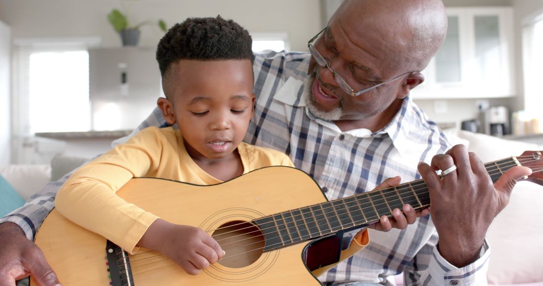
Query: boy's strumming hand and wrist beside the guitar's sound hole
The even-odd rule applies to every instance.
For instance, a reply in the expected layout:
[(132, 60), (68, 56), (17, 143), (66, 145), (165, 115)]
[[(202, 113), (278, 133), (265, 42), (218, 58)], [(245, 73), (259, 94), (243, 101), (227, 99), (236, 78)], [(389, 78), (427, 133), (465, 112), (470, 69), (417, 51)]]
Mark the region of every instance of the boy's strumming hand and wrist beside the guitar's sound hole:
[(160, 218), (149, 226), (138, 245), (161, 252), (190, 275), (199, 274), (225, 255), (217, 241), (198, 227)]

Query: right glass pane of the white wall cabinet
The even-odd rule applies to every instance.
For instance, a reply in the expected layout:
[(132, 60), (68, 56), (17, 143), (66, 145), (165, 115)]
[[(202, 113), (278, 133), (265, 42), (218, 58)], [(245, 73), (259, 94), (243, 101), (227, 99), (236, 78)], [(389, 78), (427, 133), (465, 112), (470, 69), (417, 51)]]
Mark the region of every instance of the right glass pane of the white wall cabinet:
[(498, 16), (475, 16), (477, 80), (500, 80), (500, 25)]

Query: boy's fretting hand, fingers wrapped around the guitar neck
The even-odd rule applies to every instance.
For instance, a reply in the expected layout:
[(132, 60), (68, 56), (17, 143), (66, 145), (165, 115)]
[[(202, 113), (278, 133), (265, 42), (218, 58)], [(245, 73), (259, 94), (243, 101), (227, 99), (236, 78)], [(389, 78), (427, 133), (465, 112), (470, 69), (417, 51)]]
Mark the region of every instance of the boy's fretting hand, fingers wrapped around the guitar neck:
[[(383, 183), (375, 187), (374, 190), (381, 190), (383, 188), (388, 187), (395, 187), (400, 184), (401, 178), (399, 176), (394, 178), (388, 178), (384, 180)], [(389, 231), (393, 228), (395, 229), (405, 229), (407, 225), (414, 224), (416, 222), (416, 218), (418, 217), (424, 217), (428, 213), (430, 213), (430, 210), (424, 209), (421, 211), (415, 211), (413, 207), (409, 204), (405, 204), (402, 207), (403, 213), (399, 209), (394, 209), (392, 211), (392, 218), (388, 218), (387, 216), (382, 216), (379, 219), (379, 222), (376, 224), (370, 225), (370, 228), (380, 230), (380, 231)]]

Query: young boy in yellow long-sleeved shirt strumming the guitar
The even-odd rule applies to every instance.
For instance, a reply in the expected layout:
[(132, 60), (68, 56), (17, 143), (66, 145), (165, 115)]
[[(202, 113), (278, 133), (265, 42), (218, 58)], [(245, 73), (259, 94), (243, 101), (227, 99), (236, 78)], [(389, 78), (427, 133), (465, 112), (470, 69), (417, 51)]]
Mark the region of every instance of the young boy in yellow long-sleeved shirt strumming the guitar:
[(55, 207), (132, 254), (136, 246), (159, 251), (194, 275), (224, 256), (219, 244), (203, 230), (166, 222), (115, 192), (134, 177), (210, 185), (293, 164), (281, 152), (242, 142), (255, 101), (247, 30), (219, 16), (187, 19), (160, 40), (156, 59), (166, 94), (157, 105), (179, 129), (149, 127), (81, 167), (62, 186)]

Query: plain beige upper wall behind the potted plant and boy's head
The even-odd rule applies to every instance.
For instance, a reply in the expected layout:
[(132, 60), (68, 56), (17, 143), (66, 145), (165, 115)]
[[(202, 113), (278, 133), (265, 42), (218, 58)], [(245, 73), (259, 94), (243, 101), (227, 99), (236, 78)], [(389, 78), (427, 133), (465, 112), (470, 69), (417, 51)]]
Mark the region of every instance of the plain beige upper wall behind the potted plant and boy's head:
[[(187, 17), (221, 15), (250, 32), (288, 32), (292, 50), (307, 50), (307, 40), (321, 28), (321, 3), (315, 0), (0, 0), (0, 19), (15, 38), (99, 36), (103, 47), (121, 40), (108, 22), (113, 8), (130, 6), (137, 23), (162, 18), (171, 27)], [(156, 47), (163, 32), (155, 25), (142, 28), (140, 46)]]

